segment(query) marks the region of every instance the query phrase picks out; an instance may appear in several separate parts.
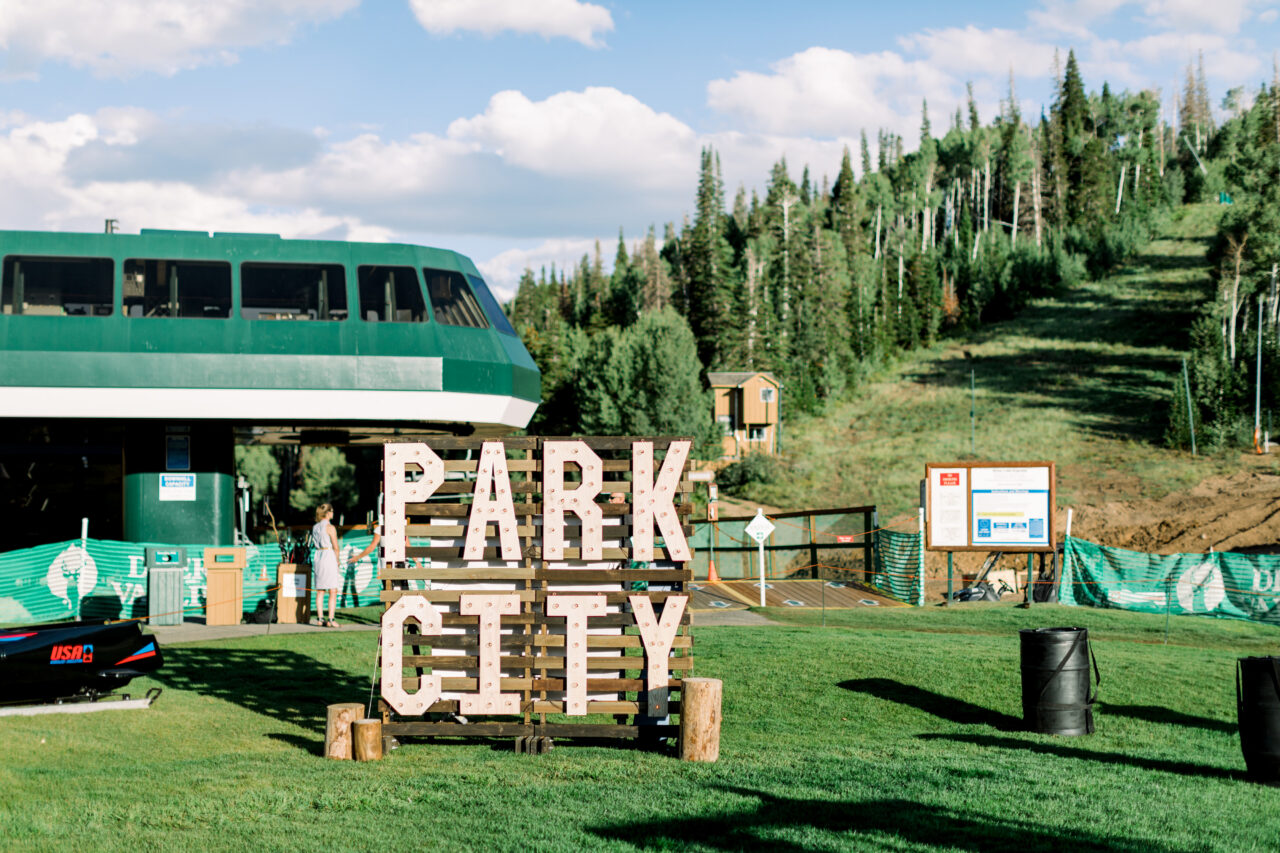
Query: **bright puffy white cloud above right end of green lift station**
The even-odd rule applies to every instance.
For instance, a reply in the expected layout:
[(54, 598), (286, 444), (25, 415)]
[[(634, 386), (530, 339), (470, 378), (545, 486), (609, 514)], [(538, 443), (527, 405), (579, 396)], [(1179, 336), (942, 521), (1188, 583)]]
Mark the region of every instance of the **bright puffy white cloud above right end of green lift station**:
[(498, 92), (483, 114), (449, 124), (448, 136), (534, 172), (631, 186), (669, 186), (698, 154), (689, 126), (609, 87), (536, 102), (521, 92)]

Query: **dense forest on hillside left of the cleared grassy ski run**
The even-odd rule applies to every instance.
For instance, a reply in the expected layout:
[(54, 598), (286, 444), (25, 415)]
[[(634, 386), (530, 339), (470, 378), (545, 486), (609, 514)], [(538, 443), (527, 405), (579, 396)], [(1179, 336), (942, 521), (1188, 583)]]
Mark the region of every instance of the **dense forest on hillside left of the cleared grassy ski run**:
[(1010, 77), (984, 122), (970, 87), (941, 120), (922, 104), (914, 150), (881, 131), (873, 158), (864, 132), (835, 179), (781, 160), (763, 197), (730, 201), (704, 150), (691, 219), (630, 248), (620, 234), (608, 274), (599, 246), (525, 272), (508, 314), (543, 370), (530, 432), (710, 442), (707, 370), (773, 371), (783, 419), (820, 412), (906, 351), (1105, 274), (1222, 186), (1203, 64), (1176, 123), (1158, 92), (1087, 92), (1074, 53), (1053, 79), (1041, 115), (1020, 113)]

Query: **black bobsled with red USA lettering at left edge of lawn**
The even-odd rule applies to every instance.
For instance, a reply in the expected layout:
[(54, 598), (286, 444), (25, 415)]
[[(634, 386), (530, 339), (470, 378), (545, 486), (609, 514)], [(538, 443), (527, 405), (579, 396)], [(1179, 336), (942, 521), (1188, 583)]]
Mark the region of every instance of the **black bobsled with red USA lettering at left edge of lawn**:
[(161, 662), (156, 638), (137, 622), (0, 628), (0, 704), (96, 699)]

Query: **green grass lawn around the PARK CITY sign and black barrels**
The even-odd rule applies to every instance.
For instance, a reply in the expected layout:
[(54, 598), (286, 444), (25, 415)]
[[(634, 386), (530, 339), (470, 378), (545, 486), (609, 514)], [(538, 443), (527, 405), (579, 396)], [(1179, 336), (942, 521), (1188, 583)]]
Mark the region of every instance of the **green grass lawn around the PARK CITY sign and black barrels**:
[[(1280, 792), (1243, 777), (1243, 622), (1037, 606), (771, 612), (695, 630), (724, 680), (721, 760), (407, 743), (320, 758), (364, 701), (374, 633), (165, 649), (147, 711), (0, 720), (5, 849), (1274, 850)], [(1020, 730), (1018, 628), (1085, 625), (1097, 734)]]

